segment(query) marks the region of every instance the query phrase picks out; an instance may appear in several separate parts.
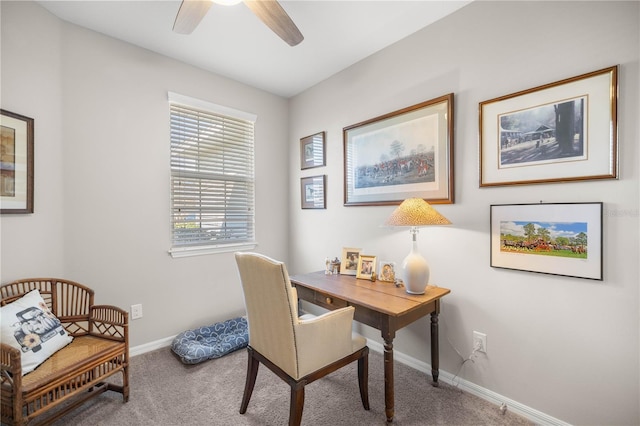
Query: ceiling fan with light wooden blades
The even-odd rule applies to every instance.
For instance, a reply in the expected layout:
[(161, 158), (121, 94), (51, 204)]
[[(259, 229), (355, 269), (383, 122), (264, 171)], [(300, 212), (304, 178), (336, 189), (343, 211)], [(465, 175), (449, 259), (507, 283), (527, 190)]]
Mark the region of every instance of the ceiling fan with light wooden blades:
[[(229, 5), (240, 1), (242, 0), (182, 0), (173, 24), (173, 31), (179, 34), (191, 34), (207, 14), (212, 3)], [(245, 0), (244, 4), (290, 46), (295, 46), (304, 39), (296, 24), (276, 0)]]

